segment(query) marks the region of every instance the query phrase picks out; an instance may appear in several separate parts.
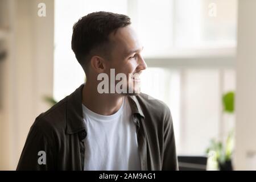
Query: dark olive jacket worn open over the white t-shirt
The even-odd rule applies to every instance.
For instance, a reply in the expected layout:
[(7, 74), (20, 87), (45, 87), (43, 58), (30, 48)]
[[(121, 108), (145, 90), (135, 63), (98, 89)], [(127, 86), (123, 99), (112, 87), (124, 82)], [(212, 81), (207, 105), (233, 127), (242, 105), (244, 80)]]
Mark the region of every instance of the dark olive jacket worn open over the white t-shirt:
[[(83, 170), (86, 126), (82, 115), (82, 84), (33, 125), (17, 170)], [(169, 108), (146, 94), (127, 96), (137, 125), (142, 170), (176, 170), (174, 128)], [(43, 161), (44, 151), (45, 164)]]

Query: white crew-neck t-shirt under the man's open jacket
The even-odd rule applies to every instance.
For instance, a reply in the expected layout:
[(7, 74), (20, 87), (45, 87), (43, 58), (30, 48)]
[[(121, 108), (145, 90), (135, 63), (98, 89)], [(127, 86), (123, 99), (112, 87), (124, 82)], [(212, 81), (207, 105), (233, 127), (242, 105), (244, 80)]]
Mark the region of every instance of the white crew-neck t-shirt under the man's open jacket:
[(84, 170), (141, 170), (136, 126), (124, 98), (113, 115), (100, 115), (82, 105), (87, 127)]

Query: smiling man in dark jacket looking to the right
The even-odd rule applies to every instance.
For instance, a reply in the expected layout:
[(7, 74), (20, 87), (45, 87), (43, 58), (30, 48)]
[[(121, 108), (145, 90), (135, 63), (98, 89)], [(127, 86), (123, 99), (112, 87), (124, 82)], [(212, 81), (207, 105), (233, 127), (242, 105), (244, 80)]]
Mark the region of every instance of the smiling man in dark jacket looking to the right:
[(36, 118), (17, 169), (177, 169), (170, 110), (139, 93), (147, 65), (130, 24), (103, 11), (75, 23), (72, 49), (86, 83)]

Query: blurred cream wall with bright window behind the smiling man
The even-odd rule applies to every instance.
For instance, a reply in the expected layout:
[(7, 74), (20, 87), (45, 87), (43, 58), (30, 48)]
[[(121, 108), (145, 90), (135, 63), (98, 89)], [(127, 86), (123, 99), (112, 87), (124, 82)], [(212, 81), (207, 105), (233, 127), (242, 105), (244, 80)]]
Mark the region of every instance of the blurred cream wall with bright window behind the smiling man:
[[(42, 10), (45, 6), (45, 16)], [(93, 11), (131, 17), (148, 69), (142, 92), (166, 102), (178, 155), (207, 156), (234, 130), (235, 169), (256, 169), (254, 0), (0, 0), (0, 169), (15, 169), (30, 126), (82, 82), (72, 26)], [(236, 93), (227, 112), (223, 96)]]

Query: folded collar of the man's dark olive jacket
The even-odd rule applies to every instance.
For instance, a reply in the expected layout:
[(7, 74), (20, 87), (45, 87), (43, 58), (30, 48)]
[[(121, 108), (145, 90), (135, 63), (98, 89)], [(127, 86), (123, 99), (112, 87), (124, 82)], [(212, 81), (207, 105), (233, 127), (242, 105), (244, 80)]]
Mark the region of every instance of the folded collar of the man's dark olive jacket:
[[(82, 115), (82, 88), (84, 84), (79, 86), (67, 97), (67, 133), (75, 134), (82, 130), (86, 130), (83, 115)], [(136, 98), (136, 96), (128, 96), (129, 103), (131, 106), (131, 113), (139, 114), (144, 118), (141, 106)]]

